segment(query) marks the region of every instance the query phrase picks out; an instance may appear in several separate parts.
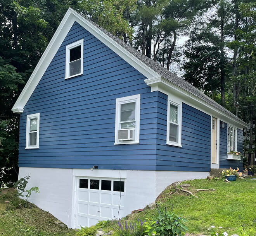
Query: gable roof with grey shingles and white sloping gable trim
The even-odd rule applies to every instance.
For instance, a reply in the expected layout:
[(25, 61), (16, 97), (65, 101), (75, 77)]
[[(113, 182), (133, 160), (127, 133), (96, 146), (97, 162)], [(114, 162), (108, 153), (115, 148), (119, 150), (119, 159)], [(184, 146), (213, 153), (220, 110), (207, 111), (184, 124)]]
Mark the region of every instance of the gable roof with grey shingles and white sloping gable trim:
[[(130, 45), (123, 42), (121, 39), (117, 38), (106, 29), (100, 27), (93, 21), (87, 19), (82, 16), (74, 9), (69, 8), (63, 17), (59, 27), (57, 28), (54, 36), (52, 37), (50, 43), (45, 49), (42, 57), (40, 58), (38, 64), (36, 65), (35, 70), (31, 74), (26, 86), (22, 90), (19, 98), (14, 104), (12, 111), (15, 113), (22, 113), (24, 106), (28, 102), (29, 97), (35, 90), (38, 82), (40, 81), (42, 75), (50, 64), (52, 58), (57, 52), (59, 46), (61, 46), (62, 41), (66, 37), (67, 32), (73, 25), (73, 23), (77, 21), (86, 30), (92, 33), (96, 38), (105, 43), (109, 48), (111, 48), (114, 52), (116, 52), (119, 56), (121, 56), (126, 62), (130, 63), (133, 67), (135, 67), (139, 72), (141, 72), (145, 77), (151, 80), (159, 80), (166, 79), (170, 84), (178, 86), (183, 91), (187, 91), (190, 94), (193, 94), (198, 99), (204, 101), (209, 104), (209, 106), (217, 108), (222, 113), (225, 113), (232, 120), (236, 120), (240, 125), (247, 127), (247, 124), (240, 120), (233, 113), (225, 109), (220, 104), (216, 103), (213, 99), (206, 96), (204, 93), (196, 89), (194, 86), (189, 84), (187, 81), (181, 79), (177, 75), (172, 72), (166, 70), (164, 67), (154, 62), (147, 56), (143, 55), (139, 51), (135, 50)], [(146, 82), (146, 81), (145, 81)]]

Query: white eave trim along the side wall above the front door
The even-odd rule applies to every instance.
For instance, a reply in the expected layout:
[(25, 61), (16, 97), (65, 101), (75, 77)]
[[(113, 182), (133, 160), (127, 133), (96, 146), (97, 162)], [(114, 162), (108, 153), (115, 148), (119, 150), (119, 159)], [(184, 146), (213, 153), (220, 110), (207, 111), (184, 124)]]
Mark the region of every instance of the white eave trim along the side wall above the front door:
[(187, 90), (173, 84), (170, 80), (167, 80), (163, 77), (145, 79), (144, 82), (151, 87), (151, 91), (160, 91), (164, 94), (175, 94), (176, 96), (182, 98), (183, 102), (203, 111), (204, 113), (214, 116), (215, 118), (220, 118), (221, 121), (224, 121), (227, 124), (234, 125), (237, 128), (246, 128), (248, 127), (247, 123), (240, 121), (227, 113), (224, 113), (220, 109), (214, 107), (213, 105), (203, 101), (194, 94), (188, 92)]

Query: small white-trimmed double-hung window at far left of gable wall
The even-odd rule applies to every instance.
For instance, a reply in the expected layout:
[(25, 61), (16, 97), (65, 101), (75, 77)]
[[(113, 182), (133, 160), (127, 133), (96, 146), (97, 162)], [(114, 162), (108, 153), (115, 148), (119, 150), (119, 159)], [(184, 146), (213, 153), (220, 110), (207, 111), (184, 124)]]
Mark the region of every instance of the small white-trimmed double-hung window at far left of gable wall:
[(26, 149), (39, 147), (39, 116), (40, 113), (27, 115)]

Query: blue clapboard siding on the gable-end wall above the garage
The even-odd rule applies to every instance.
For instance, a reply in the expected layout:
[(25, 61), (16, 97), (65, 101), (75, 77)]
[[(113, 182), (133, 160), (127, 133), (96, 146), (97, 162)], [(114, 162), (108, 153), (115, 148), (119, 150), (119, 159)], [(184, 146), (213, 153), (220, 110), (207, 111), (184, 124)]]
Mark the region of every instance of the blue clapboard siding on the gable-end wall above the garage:
[[(66, 45), (84, 39), (83, 75), (65, 80)], [(74, 23), (20, 118), (19, 166), (156, 169), (157, 99), (144, 75)], [(116, 98), (141, 94), (140, 144), (114, 145)], [(40, 113), (39, 149), (25, 149)]]

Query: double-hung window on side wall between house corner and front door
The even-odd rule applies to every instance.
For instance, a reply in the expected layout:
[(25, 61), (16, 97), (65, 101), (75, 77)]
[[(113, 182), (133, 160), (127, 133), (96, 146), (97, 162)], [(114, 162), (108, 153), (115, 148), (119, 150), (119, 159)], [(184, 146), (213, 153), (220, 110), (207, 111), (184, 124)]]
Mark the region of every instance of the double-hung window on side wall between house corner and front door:
[(181, 105), (171, 101), (168, 104), (166, 143), (181, 146)]

